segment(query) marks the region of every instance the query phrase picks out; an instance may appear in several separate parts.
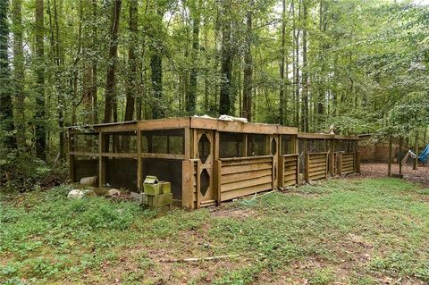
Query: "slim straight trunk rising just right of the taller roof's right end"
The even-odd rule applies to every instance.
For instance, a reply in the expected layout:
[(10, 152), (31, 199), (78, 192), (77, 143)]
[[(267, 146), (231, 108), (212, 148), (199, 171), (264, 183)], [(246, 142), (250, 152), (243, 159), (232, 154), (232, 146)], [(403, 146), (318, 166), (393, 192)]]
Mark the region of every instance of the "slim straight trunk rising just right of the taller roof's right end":
[(307, 0), (302, 0), (302, 105), (301, 130), (308, 131)]

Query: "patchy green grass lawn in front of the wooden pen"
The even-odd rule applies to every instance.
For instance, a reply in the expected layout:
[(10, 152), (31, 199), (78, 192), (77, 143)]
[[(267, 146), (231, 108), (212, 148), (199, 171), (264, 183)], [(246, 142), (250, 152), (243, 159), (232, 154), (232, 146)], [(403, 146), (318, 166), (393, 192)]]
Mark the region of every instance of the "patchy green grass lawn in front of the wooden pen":
[[(162, 217), (70, 189), (2, 197), (0, 283), (429, 281), (429, 191), (403, 180), (329, 180)], [(172, 262), (224, 255), (236, 256)]]

